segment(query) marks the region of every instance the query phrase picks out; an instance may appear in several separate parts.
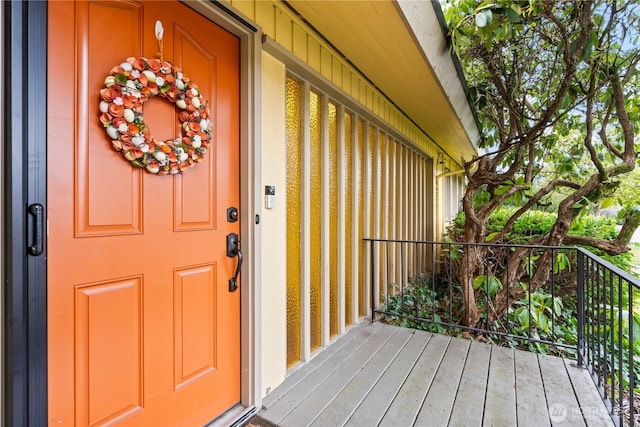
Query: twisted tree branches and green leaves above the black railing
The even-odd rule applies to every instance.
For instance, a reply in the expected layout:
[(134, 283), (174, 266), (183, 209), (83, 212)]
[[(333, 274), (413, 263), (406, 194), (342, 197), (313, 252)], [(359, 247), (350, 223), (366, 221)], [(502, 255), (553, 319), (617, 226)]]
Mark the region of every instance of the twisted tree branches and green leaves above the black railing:
[[(464, 209), (474, 218), (466, 224), (467, 236), (495, 242), (499, 230), (491, 230), (491, 213), (505, 206), (556, 211), (556, 217), (543, 218), (553, 221), (548, 227), (525, 220), (514, 230), (543, 236), (541, 229), (550, 230), (559, 219), (545, 240), (551, 245), (560, 244), (563, 233), (582, 232), (577, 221), (571, 230), (565, 222), (613, 204), (622, 207), (621, 222), (637, 226), (628, 214), (640, 205), (640, 173), (633, 172), (640, 158), (640, 3), (441, 4), (484, 149), (478, 158), (465, 159), (471, 193), (465, 200), (473, 203)], [(529, 221), (536, 215), (524, 214)], [(600, 247), (614, 253), (610, 242), (616, 236), (613, 229)], [(520, 243), (512, 237), (504, 241)]]

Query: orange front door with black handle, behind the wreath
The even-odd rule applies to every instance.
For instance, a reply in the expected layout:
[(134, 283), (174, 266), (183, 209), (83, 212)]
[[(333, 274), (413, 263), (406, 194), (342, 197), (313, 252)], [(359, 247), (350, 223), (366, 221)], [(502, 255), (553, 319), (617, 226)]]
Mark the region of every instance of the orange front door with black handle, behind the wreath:
[[(158, 56), (156, 20), (211, 105), (211, 147), (184, 175), (134, 168), (99, 121), (112, 67)], [(48, 22), (49, 425), (204, 425), (240, 400), (239, 40), (168, 1), (54, 1)], [(165, 99), (144, 120), (179, 136)]]

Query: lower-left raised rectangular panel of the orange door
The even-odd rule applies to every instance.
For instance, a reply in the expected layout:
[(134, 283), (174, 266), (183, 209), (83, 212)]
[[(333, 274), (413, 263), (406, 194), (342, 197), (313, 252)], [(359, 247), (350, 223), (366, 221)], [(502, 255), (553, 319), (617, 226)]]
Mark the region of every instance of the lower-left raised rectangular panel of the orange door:
[(75, 288), (77, 425), (142, 408), (141, 282), (132, 277)]

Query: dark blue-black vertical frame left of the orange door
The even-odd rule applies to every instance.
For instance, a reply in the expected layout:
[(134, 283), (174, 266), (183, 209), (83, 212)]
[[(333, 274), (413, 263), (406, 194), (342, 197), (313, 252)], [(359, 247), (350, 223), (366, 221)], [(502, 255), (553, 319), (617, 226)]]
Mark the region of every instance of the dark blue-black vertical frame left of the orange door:
[(47, 3), (2, 6), (3, 418), (7, 426), (46, 425), (46, 238), (41, 255), (27, 255), (27, 207), (47, 211)]

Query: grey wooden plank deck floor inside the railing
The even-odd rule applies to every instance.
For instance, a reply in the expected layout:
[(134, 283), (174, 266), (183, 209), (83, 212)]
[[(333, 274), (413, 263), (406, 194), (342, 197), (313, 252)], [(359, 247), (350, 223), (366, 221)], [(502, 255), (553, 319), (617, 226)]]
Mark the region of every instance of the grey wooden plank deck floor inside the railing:
[(608, 426), (572, 361), (368, 322), (295, 371), (260, 415), (302, 426)]

